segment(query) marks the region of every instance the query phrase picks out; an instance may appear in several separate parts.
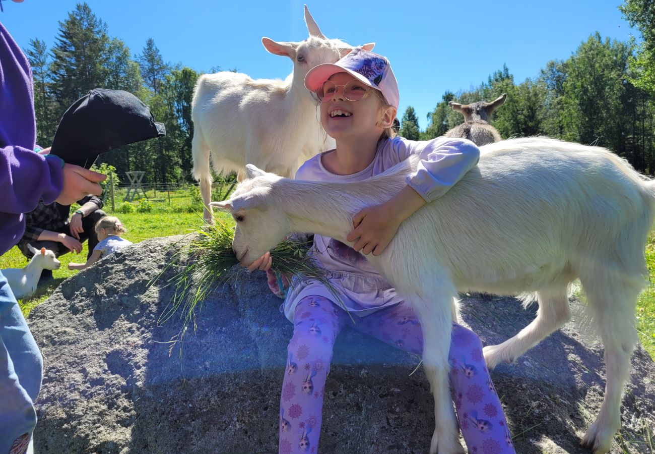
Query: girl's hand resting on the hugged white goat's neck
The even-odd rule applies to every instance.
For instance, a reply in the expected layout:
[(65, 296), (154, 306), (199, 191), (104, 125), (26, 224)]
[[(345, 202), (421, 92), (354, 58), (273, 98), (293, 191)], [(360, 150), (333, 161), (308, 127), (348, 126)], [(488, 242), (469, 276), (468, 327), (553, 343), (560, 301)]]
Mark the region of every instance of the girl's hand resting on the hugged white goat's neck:
[(396, 216), (388, 205), (375, 205), (360, 211), (352, 218), (354, 230), (348, 241), (355, 241), (352, 249), (368, 255), (380, 255), (398, 232), (402, 218)]

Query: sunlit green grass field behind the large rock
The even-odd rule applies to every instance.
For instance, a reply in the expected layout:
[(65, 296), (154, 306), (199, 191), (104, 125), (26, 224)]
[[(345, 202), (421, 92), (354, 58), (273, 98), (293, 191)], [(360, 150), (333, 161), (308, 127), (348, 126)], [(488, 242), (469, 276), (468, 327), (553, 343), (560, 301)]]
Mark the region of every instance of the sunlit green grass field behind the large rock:
[[(156, 196), (152, 192), (147, 194), (151, 201), (149, 203), (130, 203), (126, 209), (122, 201), (115, 203), (117, 211), (137, 211), (141, 209), (149, 212), (135, 213), (111, 213), (111, 204), (105, 201), (105, 211), (119, 217), (128, 229), (124, 238), (133, 243), (144, 239), (171, 236), (190, 232), (202, 225), (202, 205), (199, 205), (199, 194), (195, 190), (182, 190), (178, 192), (159, 192)], [(169, 198), (170, 196), (170, 198)], [(122, 199), (122, 197), (121, 197)], [(47, 287), (40, 288), (37, 294), (24, 301), (19, 301), (20, 306), (27, 316), (29, 311), (48, 298), (48, 295), (64, 279), (73, 276), (77, 271), (68, 270), (69, 262), (86, 262), (86, 243), (80, 255), (72, 253), (61, 257), (62, 266), (53, 272), (55, 280)], [(650, 285), (641, 294), (637, 302), (637, 330), (644, 348), (652, 358), (655, 358), (655, 232), (648, 239), (646, 245), (646, 262)], [(27, 260), (18, 251), (17, 247), (12, 248), (5, 255), (0, 257), (0, 269), (22, 268)]]

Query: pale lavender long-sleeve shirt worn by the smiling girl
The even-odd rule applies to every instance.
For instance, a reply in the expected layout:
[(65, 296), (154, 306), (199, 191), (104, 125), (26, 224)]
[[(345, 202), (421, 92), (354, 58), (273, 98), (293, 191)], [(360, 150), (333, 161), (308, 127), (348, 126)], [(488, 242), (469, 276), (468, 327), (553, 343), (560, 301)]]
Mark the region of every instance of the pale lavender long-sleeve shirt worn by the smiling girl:
[[(323, 167), (318, 154), (303, 164), (295, 175), (297, 180), (351, 182), (379, 175), (410, 155), (419, 155), (419, 167), (407, 176), (407, 184), (421, 197), (431, 202), (443, 196), (450, 188), (477, 165), (480, 150), (476, 144), (464, 138), (438, 137), (415, 142), (402, 137), (384, 140), (377, 148), (373, 161), (364, 170), (351, 175), (335, 175)], [(341, 293), (341, 303), (348, 311), (364, 316), (402, 300), (390, 283), (373, 268), (366, 257), (339, 241), (322, 235), (314, 235), (312, 255), (332, 272), (330, 281)], [(307, 295), (316, 293), (313, 281), (295, 279), (281, 310), (293, 321), (295, 306)], [(316, 293), (318, 294), (318, 293)]]

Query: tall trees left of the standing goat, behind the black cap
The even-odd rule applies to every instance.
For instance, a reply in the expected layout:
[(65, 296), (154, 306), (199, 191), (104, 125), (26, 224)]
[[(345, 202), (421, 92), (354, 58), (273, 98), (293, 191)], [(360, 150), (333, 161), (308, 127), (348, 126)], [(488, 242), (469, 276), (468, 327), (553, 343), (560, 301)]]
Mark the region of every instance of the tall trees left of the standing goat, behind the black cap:
[(191, 99), (198, 72), (164, 62), (153, 39), (133, 55), (121, 39), (107, 35), (107, 24), (86, 3), (59, 23), (52, 49), (31, 39), (26, 54), (34, 79), (37, 143), (52, 143), (65, 110), (90, 89), (125, 90), (150, 107), (155, 120), (166, 125), (166, 136), (112, 150), (98, 163), (115, 167), (119, 175), (145, 171), (150, 183), (191, 179)]

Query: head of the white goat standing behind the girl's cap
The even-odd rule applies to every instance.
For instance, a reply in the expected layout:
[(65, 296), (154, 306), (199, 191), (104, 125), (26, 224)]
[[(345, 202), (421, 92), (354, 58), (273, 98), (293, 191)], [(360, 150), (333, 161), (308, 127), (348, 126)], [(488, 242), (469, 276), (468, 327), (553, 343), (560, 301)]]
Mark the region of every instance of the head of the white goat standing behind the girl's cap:
[[(301, 91), (301, 93), (311, 94), (305, 88), (305, 75), (314, 66), (323, 63), (335, 63), (339, 58), (348, 54), (354, 47), (344, 43), (340, 39), (328, 39), (320, 31), (318, 25), (309, 14), (309, 9), (305, 5), (305, 24), (309, 31), (309, 38), (305, 41), (286, 42), (286, 41), (273, 41), (267, 37), (261, 39), (261, 43), (265, 49), (271, 54), (288, 56), (293, 61), (293, 85)], [(362, 47), (367, 51), (371, 51), (375, 43), (368, 43)]]

